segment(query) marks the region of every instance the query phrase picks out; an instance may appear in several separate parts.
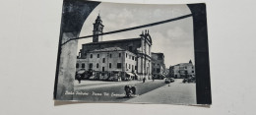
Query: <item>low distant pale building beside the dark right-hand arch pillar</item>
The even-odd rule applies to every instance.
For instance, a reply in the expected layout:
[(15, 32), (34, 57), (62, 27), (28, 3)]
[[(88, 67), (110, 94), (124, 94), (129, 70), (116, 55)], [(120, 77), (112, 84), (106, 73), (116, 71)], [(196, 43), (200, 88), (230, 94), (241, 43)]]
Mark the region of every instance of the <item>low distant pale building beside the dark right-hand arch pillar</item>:
[(176, 79), (195, 77), (195, 67), (191, 60), (189, 63), (180, 63), (174, 66), (170, 66), (169, 75), (170, 77)]

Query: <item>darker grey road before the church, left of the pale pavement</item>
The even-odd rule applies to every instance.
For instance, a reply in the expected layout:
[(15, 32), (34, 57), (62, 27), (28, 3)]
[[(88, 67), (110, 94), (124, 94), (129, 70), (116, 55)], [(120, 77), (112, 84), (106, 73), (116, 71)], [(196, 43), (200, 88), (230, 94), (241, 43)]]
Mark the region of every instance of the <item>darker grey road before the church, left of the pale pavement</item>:
[(82, 81), (82, 84), (75, 83), (75, 94), (74, 100), (82, 99), (87, 102), (122, 102), (128, 99), (125, 97), (124, 86), (136, 86), (136, 94), (141, 95), (146, 92), (149, 92), (153, 89), (156, 89), (160, 86), (164, 86), (166, 84), (163, 83), (163, 80), (155, 80), (146, 81), (146, 83), (142, 83), (140, 81), (132, 81), (132, 82), (90, 82), (90, 81)]

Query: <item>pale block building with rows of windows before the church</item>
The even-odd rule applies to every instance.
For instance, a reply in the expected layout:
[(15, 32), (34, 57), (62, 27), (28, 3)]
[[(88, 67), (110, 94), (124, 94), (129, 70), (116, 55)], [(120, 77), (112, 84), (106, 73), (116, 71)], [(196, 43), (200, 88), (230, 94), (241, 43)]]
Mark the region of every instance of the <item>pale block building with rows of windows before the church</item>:
[(114, 76), (120, 77), (121, 80), (136, 80), (136, 58), (130, 51), (109, 47), (87, 52), (85, 58), (78, 58), (76, 67), (78, 70), (94, 70), (98, 80), (107, 80)]

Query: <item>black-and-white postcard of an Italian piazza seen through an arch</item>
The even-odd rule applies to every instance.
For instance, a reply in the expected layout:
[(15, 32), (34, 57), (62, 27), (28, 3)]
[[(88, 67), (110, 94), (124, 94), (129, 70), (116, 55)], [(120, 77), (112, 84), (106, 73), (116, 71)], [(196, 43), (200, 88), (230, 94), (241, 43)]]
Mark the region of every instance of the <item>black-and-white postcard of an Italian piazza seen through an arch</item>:
[(54, 99), (212, 104), (206, 5), (64, 0)]

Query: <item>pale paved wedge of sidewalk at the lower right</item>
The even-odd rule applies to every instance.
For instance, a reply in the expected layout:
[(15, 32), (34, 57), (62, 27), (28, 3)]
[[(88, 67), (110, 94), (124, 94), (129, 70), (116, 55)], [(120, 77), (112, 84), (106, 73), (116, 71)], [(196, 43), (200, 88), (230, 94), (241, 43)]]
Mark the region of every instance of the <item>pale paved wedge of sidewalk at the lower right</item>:
[(170, 86), (161, 86), (126, 102), (196, 104), (196, 84), (182, 84), (182, 80), (176, 80)]

